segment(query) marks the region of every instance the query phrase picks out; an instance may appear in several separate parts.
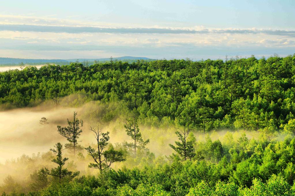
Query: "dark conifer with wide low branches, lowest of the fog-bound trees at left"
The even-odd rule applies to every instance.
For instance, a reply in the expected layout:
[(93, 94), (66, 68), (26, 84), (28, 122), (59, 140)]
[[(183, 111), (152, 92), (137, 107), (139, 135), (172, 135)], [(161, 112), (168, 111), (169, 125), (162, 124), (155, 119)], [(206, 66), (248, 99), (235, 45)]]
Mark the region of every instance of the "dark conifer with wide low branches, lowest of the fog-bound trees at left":
[(64, 178), (66, 180), (71, 180), (74, 177), (78, 176), (80, 172), (71, 172), (67, 168), (64, 168), (65, 162), (69, 158), (63, 158), (62, 156), (62, 148), (63, 145), (61, 143), (56, 143), (54, 145), (55, 149), (50, 149), (52, 152), (56, 153), (56, 158), (52, 160), (53, 163), (56, 163), (58, 166), (55, 168), (52, 168), (50, 171), (45, 167), (40, 170), (41, 173), (44, 173), (46, 175), (53, 176), (55, 179), (58, 179), (58, 182), (61, 183)]

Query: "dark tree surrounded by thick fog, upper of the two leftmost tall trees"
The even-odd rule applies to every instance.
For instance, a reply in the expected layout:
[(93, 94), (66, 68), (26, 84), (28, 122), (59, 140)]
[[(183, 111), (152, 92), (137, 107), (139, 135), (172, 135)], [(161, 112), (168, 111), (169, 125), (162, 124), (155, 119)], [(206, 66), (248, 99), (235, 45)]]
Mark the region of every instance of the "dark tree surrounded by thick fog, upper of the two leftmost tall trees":
[(66, 127), (61, 127), (60, 125), (57, 126), (58, 133), (62, 135), (63, 137), (67, 138), (67, 140), (70, 142), (65, 144), (65, 148), (72, 149), (74, 157), (76, 155), (76, 150), (82, 149), (81, 145), (78, 145), (77, 143), (81, 142), (81, 141), (78, 141), (78, 139), (82, 133), (81, 127), (83, 127), (83, 120), (77, 119), (76, 115), (77, 113), (74, 112), (73, 121), (70, 121), (69, 119), (67, 119), (68, 126)]

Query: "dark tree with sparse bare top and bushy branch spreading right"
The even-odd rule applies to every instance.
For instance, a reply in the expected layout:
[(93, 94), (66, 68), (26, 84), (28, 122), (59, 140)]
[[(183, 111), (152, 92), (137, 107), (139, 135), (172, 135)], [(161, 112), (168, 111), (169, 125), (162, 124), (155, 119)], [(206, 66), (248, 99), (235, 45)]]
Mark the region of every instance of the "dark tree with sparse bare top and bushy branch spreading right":
[(85, 148), (87, 154), (90, 155), (95, 163), (90, 163), (88, 167), (97, 168), (102, 172), (103, 170), (111, 167), (112, 163), (125, 161), (124, 152), (122, 150), (115, 150), (111, 145), (107, 150), (104, 150), (109, 144), (109, 132), (102, 133), (101, 129), (97, 126), (95, 128), (90, 127), (90, 130), (94, 133), (94, 137), (97, 142), (97, 150), (91, 146)]

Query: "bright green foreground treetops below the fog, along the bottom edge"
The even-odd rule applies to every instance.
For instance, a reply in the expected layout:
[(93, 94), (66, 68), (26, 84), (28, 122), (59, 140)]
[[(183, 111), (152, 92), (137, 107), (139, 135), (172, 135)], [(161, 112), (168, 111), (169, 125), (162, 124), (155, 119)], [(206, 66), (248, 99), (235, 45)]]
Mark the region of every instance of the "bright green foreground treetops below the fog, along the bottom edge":
[[(226, 138), (230, 138), (228, 133)], [(110, 168), (98, 176), (82, 176), (71, 181), (67, 178), (60, 183), (52, 179), (52, 183), (43, 189), (39, 187), (37, 189), (40, 190), (32, 190), (28, 195), (294, 195), (295, 139), (287, 138), (268, 145), (258, 141), (255, 148), (249, 148), (253, 145), (252, 140), (242, 135), (233, 142), (233, 148), (224, 148), (224, 156), (215, 163), (216, 160), (209, 157), (209, 152), (206, 154), (204, 151), (208, 146), (216, 146), (207, 137), (195, 147), (206, 154), (205, 160), (183, 161), (174, 156), (171, 161), (165, 162), (152, 158), (152, 162), (147, 165), (138, 164), (138, 167), (131, 169)], [(240, 144), (242, 141), (244, 144)], [(56, 147), (59, 152), (61, 146), (57, 144)], [(250, 149), (250, 152), (244, 153), (242, 149)], [(60, 159), (57, 157), (53, 161), (57, 160)], [(61, 158), (62, 163), (64, 160)], [(64, 168), (60, 168), (64, 173)], [(55, 170), (53, 173), (56, 173)], [(35, 174), (32, 175), (34, 182), (42, 182)], [(11, 176), (4, 183), (0, 187), (1, 192), (10, 195), (21, 195), (24, 192)]]

